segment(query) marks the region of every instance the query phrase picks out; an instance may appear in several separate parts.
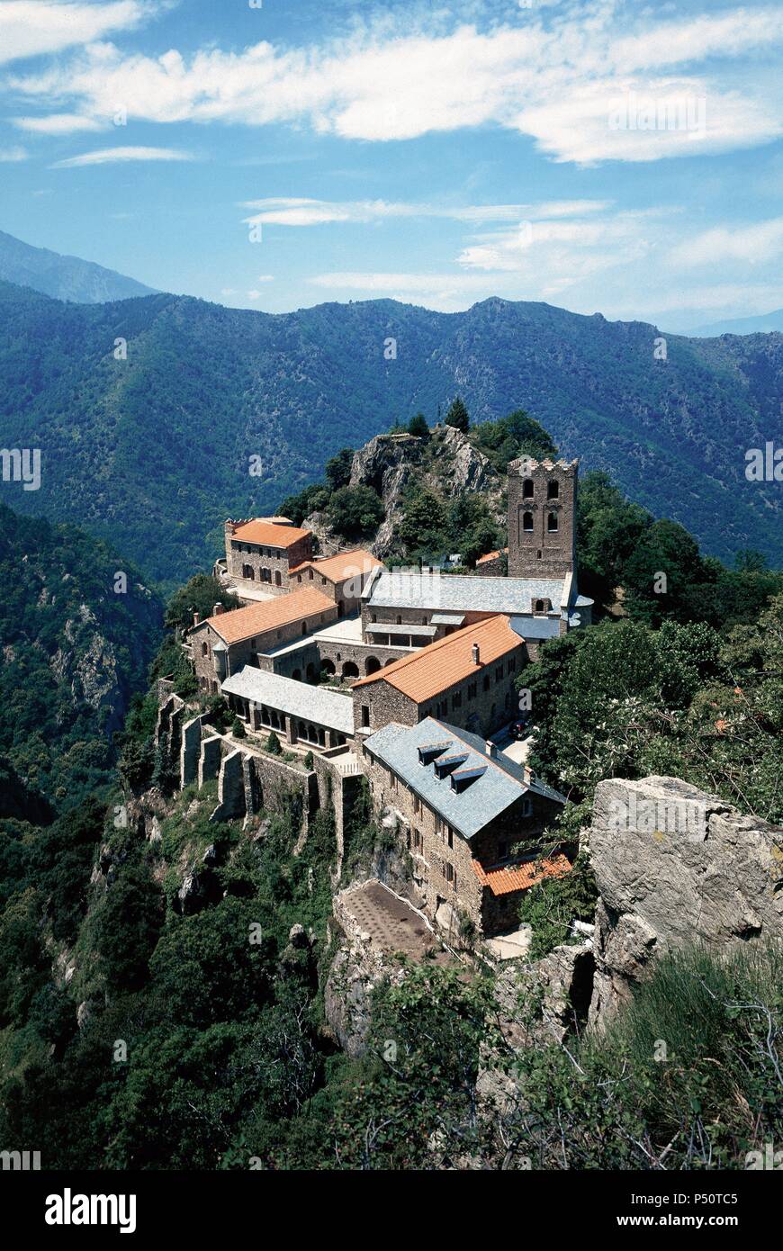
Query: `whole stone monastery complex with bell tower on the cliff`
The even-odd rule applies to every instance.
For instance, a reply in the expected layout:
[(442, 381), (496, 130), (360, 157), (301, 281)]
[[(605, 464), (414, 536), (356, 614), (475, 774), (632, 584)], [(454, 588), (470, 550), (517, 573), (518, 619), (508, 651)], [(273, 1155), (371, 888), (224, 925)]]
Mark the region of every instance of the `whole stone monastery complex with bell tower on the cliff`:
[(320, 769), (366, 777), (418, 904), (449, 932), (465, 917), (479, 936), (513, 929), (524, 891), (570, 868), (562, 851), (540, 857), (565, 798), (494, 739), (540, 642), (592, 619), (577, 490), (577, 460), (509, 464), (508, 574), (499, 552), (474, 575), (386, 569), (363, 548), (314, 555), (286, 518), (228, 520), (215, 573), (238, 607), (196, 614), (186, 634), (200, 689), (225, 696), (243, 742), (274, 731)]

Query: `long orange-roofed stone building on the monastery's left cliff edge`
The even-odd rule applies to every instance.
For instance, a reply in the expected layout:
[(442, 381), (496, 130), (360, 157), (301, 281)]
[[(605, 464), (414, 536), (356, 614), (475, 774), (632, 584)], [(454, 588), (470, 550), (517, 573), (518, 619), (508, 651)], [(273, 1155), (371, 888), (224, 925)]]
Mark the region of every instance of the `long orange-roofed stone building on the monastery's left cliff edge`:
[(271, 648), (336, 619), (334, 600), (309, 587), (233, 612), (215, 604), (214, 615), (195, 620), (188, 634), (199, 686), (216, 693), (225, 678), (245, 664), (258, 667)]

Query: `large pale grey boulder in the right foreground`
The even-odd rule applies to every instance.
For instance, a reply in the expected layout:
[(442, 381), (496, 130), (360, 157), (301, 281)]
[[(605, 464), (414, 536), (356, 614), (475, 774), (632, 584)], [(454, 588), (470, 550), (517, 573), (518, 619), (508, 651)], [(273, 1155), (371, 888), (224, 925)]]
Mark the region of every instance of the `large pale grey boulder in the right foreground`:
[(590, 858), (598, 1027), (667, 951), (783, 938), (783, 829), (677, 778), (600, 782)]

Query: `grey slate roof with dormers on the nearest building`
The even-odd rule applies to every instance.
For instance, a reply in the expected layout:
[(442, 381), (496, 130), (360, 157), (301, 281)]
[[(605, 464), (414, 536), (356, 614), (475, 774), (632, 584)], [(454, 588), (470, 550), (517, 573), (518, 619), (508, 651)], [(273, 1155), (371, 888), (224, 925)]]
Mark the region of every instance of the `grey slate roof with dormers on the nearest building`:
[[(459, 764), (460, 773), (473, 769), (484, 772), (465, 789), (455, 791), (448, 777), (437, 776), (438, 756), (429, 764), (420, 763), (419, 747), (435, 743), (449, 744), (440, 756), (467, 757)], [(524, 771), (512, 761), (500, 756), (490, 758), (483, 738), (434, 717), (425, 717), (418, 726), (390, 722), (370, 734), (364, 746), (465, 838), (473, 838), (529, 792), (565, 803), (557, 791), (525, 781)]]

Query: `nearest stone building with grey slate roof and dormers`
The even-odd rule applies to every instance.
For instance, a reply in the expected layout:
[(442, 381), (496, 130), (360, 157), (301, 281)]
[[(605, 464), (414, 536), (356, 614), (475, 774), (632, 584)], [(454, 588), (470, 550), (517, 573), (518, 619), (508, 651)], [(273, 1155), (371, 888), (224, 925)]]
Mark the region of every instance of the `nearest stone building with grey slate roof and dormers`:
[(447, 932), (462, 918), (479, 937), (517, 928), (524, 892), (570, 869), (559, 852), (538, 854), (564, 797), (493, 743), (425, 717), (384, 726), (360, 751), (375, 807), (402, 829), (423, 908)]

